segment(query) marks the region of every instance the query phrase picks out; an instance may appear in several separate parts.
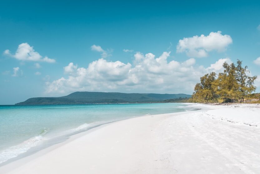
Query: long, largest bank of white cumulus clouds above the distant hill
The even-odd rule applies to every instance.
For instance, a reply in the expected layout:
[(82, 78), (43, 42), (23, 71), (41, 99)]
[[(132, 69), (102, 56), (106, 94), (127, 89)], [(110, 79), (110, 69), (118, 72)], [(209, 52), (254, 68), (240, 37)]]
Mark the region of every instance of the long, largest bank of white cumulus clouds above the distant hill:
[(220, 71), (220, 59), (210, 67), (196, 65), (194, 58), (178, 62), (168, 61), (170, 52), (161, 56), (154, 54), (134, 55), (133, 64), (110, 62), (103, 58), (91, 62), (86, 68), (73, 63), (66, 66), (68, 77), (46, 82), (48, 95), (68, 94), (74, 91), (121, 91), (191, 94), (199, 78), (211, 70)]

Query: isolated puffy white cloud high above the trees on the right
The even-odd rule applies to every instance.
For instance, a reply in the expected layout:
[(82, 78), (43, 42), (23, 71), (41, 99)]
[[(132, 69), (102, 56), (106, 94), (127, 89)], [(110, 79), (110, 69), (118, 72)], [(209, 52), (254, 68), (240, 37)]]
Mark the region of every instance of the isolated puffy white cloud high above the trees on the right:
[(221, 31), (211, 32), (208, 36), (202, 34), (179, 40), (177, 53), (185, 52), (189, 57), (207, 57), (210, 51), (225, 51), (232, 42), (232, 38), (222, 35)]

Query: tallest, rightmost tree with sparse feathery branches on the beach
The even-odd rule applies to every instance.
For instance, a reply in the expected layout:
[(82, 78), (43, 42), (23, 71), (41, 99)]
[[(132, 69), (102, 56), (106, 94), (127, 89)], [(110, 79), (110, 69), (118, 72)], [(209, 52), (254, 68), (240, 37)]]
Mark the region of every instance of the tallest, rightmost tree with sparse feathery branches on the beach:
[(236, 81), (238, 83), (238, 90), (235, 95), (236, 98), (240, 101), (240, 103), (244, 102), (244, 97), (248, 94), (251, 94), (256, 90), (254, 86), (254, 81), (257, 79), (257, 76), (249, 77), (250, 71), (248, 70), (248, 66), (245, 68), (242, 67), (242, 61), (237, 60), (236, 67)]

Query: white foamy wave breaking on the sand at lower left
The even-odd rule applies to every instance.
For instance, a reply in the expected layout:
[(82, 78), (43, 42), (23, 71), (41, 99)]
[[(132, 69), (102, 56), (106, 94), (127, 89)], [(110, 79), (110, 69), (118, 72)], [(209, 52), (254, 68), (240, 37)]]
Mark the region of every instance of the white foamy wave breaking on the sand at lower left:
[(44, 128), (40, 131), (38, 136), (32, 137), (16, 146), (11, 146), (0, 151), (0, 164), (11, 158), (17, 157), (34, 146), (37, 146), (37, 144), (43, 140), (43, 135), (45, 135), (49, 130), (50, 129), (48, 128)]

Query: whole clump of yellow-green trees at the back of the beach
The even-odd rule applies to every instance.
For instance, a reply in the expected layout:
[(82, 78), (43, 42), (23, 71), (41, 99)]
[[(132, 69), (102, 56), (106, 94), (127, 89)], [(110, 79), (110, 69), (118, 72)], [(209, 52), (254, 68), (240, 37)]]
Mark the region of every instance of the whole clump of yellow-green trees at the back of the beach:
[(244, 102), (244, 98), (256, 90), (254, 81), (257, 76), (249, 77), (248, 67), (242, 67), (242, 61), (223, 64), (224, 72), (206, 74), (194, 87), (192, 102)]

